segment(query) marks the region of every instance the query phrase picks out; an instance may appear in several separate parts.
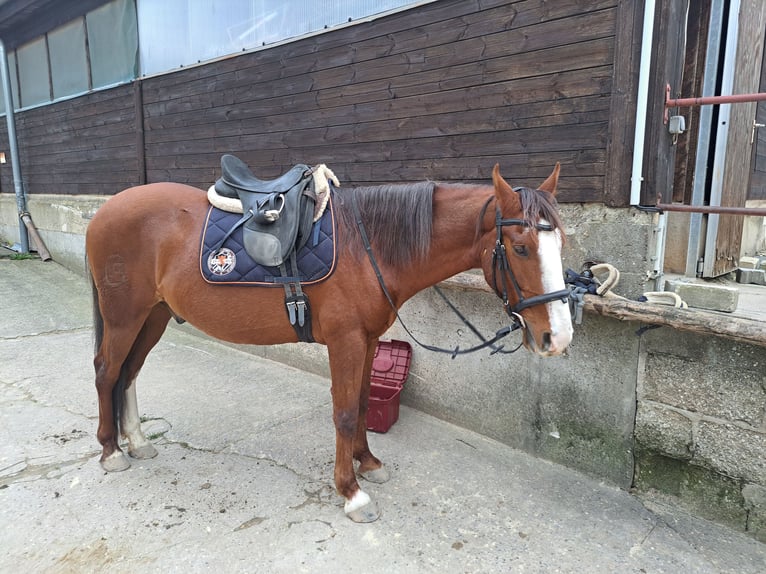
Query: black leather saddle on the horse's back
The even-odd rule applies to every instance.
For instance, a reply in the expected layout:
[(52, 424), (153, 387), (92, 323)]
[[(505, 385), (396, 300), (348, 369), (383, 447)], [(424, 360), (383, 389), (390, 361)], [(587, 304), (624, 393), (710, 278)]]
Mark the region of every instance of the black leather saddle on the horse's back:
[(316, 203), (312, 174), (312, 168), (297, 164), (276, 179), (261, 180), (239, 158), (222, 156), (215, 191), (224, 197), (239, 198), (243, 215), (221, 245), (242, 227), (245, 250), (256, 263), (282, 265), (311, 235)]

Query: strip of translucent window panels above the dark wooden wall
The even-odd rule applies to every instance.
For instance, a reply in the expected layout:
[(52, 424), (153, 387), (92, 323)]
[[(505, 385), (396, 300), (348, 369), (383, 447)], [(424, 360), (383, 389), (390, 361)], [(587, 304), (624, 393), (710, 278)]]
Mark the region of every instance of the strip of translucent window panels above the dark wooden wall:
[[(14, 103), (26, 108), (129, 82), (139, 55), (142, 74), (167, 72), (412, 3), (112, 0), (8, 53)], [(2, 100), (0, 93), (0, 112)]]

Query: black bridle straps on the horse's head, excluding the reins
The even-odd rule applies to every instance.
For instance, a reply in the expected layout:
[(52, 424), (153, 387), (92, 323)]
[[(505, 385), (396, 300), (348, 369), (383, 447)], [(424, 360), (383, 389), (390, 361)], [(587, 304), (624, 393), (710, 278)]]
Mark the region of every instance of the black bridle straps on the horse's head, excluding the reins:
[[(514, 191), (518, 191), (520, 188), (514, 188)], [(487, 207), (493, 198), (490, 198), (484, 205), (481, 212), (483, 218), (486, 213)], [(532, 297), (524, 297), (519, 287), (519, 282), (516, 280), (516, 276), (513, 274), (513, 268), (508, 261), (508, 253), (505, 249), (505, 243), (503, 243), (503, 227), (511, 227), (514, 225), (520, 225), (521, 227), (534, 227), (538, 231), (553, 231), (554, 228), (549, 223), (532, 223), (526, 219), (504, 219), (500, 213), (500, 209), (495, 207), (495, 229), (497, 230), (497, 239), (495, 240), (495, 247), (492, 250), (492, 288), (495, 293), (503, 302), (503, 308), (505, 312), (514, 321), (520, 323), (520, 326), (526, 330), (526, 322), (521, 316), (521, 312), (529, 307), (535, 305), (544, 305), (546, 303), (552, 303), (553, 301), (561, 301), (566, 303), (569, 300), (569, 289), (561, 289), (559, 291), (553, 291), (551, 293), (543, 293), (542, 295), (534, 295)], [(502, 282), (502, 289), (498, 287), (497, 275), (500, 274)], [(511, 305), (508, 300), (508, 281), (506, 278), (510, 278), (511, 286), (518, 299), (515, 305)]]

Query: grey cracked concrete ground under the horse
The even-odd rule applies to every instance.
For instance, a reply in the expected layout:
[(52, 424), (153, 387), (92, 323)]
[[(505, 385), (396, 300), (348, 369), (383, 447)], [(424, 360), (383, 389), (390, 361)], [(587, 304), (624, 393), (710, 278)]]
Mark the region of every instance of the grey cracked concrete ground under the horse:
[(159, 456), (105, 474), (90, 292), (0, 259), (0, 572), (766, 571), (766, 546), (407, 407), (355, 524), (329, 381), (170, 329), (138, 380)]

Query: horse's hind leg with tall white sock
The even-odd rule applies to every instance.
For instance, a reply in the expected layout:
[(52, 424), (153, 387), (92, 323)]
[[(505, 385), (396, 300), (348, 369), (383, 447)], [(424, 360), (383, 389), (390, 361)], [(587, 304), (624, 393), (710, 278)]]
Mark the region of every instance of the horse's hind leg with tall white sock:
[(170, 312), (164, 304), (154, 307), (144, 322), (126, 361), (128, 385), (125, 390), (120, 428), (122, 435), (128, 439), (128, 454), (132, 458), (147, 459), (157, 456), (157, 449), (141, 430), (136, 397), (136, 377), (144, 365), (149, 351), (154, 348), (165, 332), (169, 320)]

